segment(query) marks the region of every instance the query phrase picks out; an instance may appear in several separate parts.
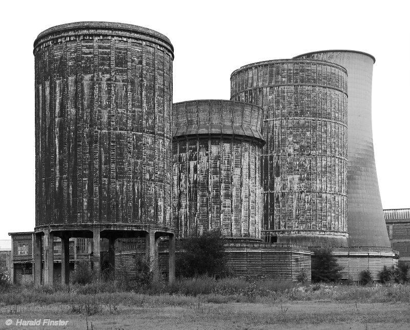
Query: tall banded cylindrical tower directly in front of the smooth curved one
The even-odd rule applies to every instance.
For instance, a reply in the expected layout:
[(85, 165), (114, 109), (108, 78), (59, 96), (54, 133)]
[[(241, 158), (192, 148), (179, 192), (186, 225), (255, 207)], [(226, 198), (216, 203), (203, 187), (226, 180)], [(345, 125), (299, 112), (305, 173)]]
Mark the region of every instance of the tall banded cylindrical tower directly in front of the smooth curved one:
[(263, 107), (263, 233), (347, 245), (347, 76), (338, 65), (270, 60), (231, 75), (231, 99)]

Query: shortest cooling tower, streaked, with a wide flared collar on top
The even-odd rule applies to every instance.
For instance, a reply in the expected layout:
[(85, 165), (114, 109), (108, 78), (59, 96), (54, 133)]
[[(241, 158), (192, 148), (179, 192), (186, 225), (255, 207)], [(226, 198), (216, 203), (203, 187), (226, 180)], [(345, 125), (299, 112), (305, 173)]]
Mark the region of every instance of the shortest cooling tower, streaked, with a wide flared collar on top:
[(221, 229), (260, 237), (263, 110), (229, 100), (173, 105), (174, 224), (179, 237)]

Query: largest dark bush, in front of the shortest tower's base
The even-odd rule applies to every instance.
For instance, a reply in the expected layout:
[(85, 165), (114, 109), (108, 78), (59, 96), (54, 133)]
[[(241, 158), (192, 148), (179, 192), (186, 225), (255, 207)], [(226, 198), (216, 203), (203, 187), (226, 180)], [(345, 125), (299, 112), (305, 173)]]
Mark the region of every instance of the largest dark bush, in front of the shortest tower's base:
[(206, 231), (198, 237), (182, 240), (182, 251), (176, 255), (176, 275), (194, 277), (228, 275), (223, 236), (220, 230)]

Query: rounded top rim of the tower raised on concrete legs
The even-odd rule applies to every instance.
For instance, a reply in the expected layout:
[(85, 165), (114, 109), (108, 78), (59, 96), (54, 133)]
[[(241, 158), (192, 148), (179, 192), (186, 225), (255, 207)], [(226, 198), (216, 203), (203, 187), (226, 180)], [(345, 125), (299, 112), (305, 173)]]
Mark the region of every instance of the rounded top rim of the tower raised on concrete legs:
[(115, 22), (74, 22), (53, 26), (40, 34), (34, 41), (34, 51), (52, 39), (79, 34), (118, 35), (159, 43), (174, 56), (174, 46), (168, 37), (157, 31), (132, 24)]

